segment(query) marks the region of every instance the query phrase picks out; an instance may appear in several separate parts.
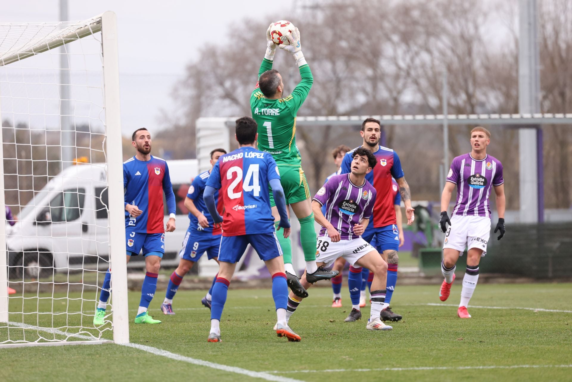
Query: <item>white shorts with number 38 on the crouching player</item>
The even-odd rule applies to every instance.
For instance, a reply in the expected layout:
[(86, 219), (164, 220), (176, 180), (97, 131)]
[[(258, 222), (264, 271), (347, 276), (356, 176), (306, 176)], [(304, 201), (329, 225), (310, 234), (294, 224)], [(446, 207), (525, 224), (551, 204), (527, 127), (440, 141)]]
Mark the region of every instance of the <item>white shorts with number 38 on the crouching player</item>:
[(337, 258), (345, 258), (352, 266), (364, 255), (375, 251), (375, 248), (362, 238), (340, 240), (332, 243), (329, 237), (318, 237), (316, 245), (316, 262), (331, 265)]

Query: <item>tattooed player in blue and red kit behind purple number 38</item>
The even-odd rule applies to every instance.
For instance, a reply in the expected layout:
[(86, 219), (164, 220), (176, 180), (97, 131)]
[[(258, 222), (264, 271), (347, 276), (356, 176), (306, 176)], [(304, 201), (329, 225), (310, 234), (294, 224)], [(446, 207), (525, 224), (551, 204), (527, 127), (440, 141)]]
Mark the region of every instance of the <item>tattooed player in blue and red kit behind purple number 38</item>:
[[(378, 160), (378, 165), (374, 170), (366, 175), (368, 182), (374, 185), (378, 192), (378, 198), (375, 200), (374, 214), (370, 219), (363, 238), (371, 243), (375, 243), (379, 250), (382, 251), (382, 257), (387, 261), (390, 270), (387, 271), (387, 296), (386, 302), (389, 304), (391, 296), (395, 290), (397, 282), (397, 264), (399, 239), (395, 239), (399, 235), (396, 229), (397, 219), (394, 209), (394, 199), (391, 194), (391, 177), (395, 178), (399, 185), (399, 191), (403, 204), (405, 204), (405, 213), (407, 216), (407, 225), (411, 225), (414, 216), (414, 209), (411, 207), (411, 191), (403, 175), (399, 156), (390, 148), (379, 145), (381, 137), (380, 122), (374, 118), (367, 118), (362, 123), (360, 135), (363, 137), (361, 147), (370, 150)], [(341, 162), (341, 174), (350, 171), (350, 164), (353, 150), (345, 154), (344, 160)], [(355, 267), (349, 268), (348, 275), (349, 296), (352, 299), (352, 305), (355, 301), (360, 300), (360, 290), (362, 289), (362, 270)], [(398, 321), (402, 317), (399, 314), (391, 312), (389, 308), (382, 312), (382, 320)], [(349, 318), (349, 317), (348, 317)]]

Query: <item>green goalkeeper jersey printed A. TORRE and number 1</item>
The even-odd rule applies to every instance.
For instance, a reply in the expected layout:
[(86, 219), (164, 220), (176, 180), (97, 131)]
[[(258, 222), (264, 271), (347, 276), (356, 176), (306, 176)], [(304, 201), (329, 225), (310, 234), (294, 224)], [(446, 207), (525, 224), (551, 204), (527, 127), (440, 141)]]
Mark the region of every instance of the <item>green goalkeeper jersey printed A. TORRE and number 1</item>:
[[(260, 74), (272, 69), (272, 61), (263, 59)], [(312, 88), (312, 72), (308, 65), (300, 67), (301, 81), (284, 98), (264, 97), (258, 83), (251, 94), (252, 118), (258, 124), (258, 148), (269, 152), (279, 166), (301, 167), (300, 151), (296, 146), (296, 113)]]

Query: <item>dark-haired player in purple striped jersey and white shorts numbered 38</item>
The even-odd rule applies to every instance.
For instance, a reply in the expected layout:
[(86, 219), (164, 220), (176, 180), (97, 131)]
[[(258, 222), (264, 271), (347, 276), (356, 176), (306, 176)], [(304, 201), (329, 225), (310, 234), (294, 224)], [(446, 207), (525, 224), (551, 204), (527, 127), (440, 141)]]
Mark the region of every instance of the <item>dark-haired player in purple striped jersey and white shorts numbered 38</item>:
[[(339, 257), (344, 257), (352, 266), (363, 266), (375, 272), (371, 285), (371, 314), (366, 325), (368, 330), (391, 330), (392, 327), (382, 322), (380, 313), (387, 308), (385, 302), (387, 263), (379, 252), (362, 239), (374, 209), (376, 191), (366, 180), (366, 174), (375, 167), (377, 159), (366, 148), (359, 147), (353, 152), (351, 172), (332, 176), (320, 188), (312, 200), (312, 210), (316, 222), (322, 227), (317, 238), (316, 262), (318, 266), (331, 265)], [(327, 204), (326, 214), (322, 214), (321, 206)], [(300, 279), (304, 288), (311, 283), (306, 274)], [(288, 296), (287, 319), (300, 305), (301, 298), (292, 292)], [(359, 320), (362, 313), (359, 302), (352, 306), (350, 313), (353, 320)]]

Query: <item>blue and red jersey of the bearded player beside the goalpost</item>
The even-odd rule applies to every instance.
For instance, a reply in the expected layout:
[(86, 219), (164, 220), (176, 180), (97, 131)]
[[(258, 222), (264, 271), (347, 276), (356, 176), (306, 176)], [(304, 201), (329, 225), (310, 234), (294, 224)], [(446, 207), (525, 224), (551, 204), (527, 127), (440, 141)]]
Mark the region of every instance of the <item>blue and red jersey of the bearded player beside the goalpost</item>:
[(175, 194), (165, 160), (153, 155), (146, 162), (134, 156), (126, 160), (123, 163), (123, 188), (125, 203), (143, 211), (136, 218), (125, 211), (125, 227), (132, 232), (164, 233), (163, 192), (169, 214), (176, 212)]

